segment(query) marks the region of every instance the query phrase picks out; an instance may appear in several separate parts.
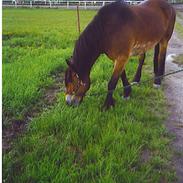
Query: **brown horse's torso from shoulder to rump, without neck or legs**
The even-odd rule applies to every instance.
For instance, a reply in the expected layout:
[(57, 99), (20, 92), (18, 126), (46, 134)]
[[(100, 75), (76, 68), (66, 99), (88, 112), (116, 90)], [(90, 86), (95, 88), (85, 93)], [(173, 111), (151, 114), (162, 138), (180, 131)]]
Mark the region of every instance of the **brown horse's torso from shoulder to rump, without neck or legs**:
[(136, 6), (116, 3), (106, 10), (104, 42), (111, 58), (118, 57), (120, 52), (130, 54), (133, 47), (137, 49), (132, 55), (139, 50), (145, 52), (161, 39), (169, 39), (173, 32), (175, 11), (165, 0), (148, 0)]

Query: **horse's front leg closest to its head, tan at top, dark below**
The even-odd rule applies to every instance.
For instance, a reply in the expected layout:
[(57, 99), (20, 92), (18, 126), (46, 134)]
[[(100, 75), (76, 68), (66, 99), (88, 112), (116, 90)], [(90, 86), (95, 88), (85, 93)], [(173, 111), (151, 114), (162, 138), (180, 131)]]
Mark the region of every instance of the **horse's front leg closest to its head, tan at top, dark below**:
[(119, 77), (124, 69), (124, 65), (126, 63), (128, 59), (123, 58), (123, 59), (119, 59), (115, 61), (115, 65), (114, 65), (114, 70), (113, 70), (113, 74), (112, 77), (108, 83), (108, 93), (103, 105), (103, 109), (107, 110), (110, 107), (114, 107), (115, 105), (115, 100), (113, 98), (113, 92), (116, 88), (117, 82), (119, 80)]

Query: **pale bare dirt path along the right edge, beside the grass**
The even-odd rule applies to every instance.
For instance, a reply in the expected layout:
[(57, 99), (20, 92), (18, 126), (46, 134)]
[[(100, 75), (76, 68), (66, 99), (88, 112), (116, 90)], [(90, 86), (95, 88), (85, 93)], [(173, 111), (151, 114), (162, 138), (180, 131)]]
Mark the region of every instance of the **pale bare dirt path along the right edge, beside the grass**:
[[(183, 11), (179, 13), (183, 17)], [(177, 21), (183, 25), (183, 19), (177, 17)], [(173, 63), (176, 56), (180, 54), (183, 54), (183, 38), (180, 38), (176, 31), (174, 31), (167, 51), (167, 73), (183, 67), (179, 67)], [(183, 72), (169, 76), (165, 79), (164, 83), (167, 101), (170, 105), (170, 116), (166, 122), (166, 126), (168, 131), (175, 136), (172, 148), (174, 151), (173, 166), (178, 177), (176, 182), (183, 183)]]

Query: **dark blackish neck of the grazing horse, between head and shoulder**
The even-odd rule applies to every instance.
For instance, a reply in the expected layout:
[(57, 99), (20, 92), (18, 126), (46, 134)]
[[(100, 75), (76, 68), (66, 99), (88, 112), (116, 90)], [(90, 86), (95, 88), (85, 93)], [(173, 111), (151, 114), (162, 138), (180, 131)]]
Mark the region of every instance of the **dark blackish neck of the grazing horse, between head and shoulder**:
[(95, 59), (100, 55), (102, 40), (102, 22), (98, 15), (82, 32), (77, 40), (73, 52), (73, 65), (77, 68), (78, 75), (83, 78), (88, 73)]

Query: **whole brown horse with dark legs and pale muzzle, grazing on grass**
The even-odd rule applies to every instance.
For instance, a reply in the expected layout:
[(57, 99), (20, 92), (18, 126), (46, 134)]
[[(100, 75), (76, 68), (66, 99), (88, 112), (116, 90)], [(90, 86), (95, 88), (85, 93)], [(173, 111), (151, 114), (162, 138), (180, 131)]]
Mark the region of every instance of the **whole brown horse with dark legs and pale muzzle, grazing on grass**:
[[(105, 53), (113, 62), (114, 70), (108, 83), (104, 103), (107, 109), (114, 106), (113, 91), (119, 78), (129, 85), (125, 65), (132, 55), (140, 55), (140, 64), (134, 81), (140, 80), (145, 52), (155, 47), (154, 73), (161, 76), (165, 70), (168, 41), (175, 24), (175, 11), (166, 0), (148, 0), (130, 6), (114, 2), (99, 10), (77, 40), (73, 57), (65, 73), (66, 102), (79, 104), (90, 87), (90, 71), (100, 54)], [(160, 85), (161, 80), (155, 79)], [(128, 97), (131, 87), (124, 89)]]

